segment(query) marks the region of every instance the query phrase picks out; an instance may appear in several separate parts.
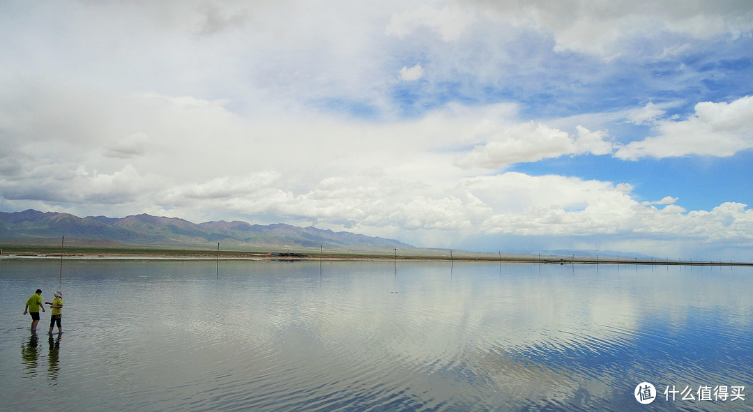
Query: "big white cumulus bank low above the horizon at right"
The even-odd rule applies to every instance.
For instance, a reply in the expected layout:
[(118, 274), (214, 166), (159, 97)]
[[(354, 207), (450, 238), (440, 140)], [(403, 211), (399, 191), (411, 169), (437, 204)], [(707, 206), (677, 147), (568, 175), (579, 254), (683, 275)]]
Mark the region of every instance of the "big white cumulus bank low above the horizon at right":
[(492, 207), (482, 224), (487, 233), (622, 237), (651, 233), (672, 240), (753, 244), (749, 232), (753, 210), (742, 203), (723, 203), (711, 212), (687, 212), (672, 204), (675, 199), (665, 197), (655, 204), (666, 206), (657, 209), (633, 200), (629, 185), (514, 172), (474, 179), (468, 188)]

